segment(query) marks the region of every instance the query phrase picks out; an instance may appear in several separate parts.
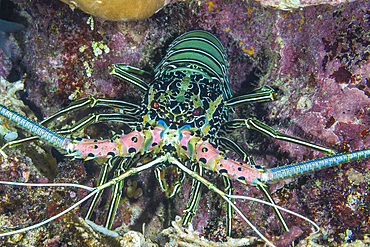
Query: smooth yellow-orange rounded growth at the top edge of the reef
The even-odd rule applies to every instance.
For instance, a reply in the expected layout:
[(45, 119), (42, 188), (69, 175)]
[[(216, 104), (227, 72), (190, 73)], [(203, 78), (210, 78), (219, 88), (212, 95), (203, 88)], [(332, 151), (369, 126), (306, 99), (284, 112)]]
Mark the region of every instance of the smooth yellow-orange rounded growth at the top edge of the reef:
[(166, 0), (61, 0), (72, 9), (111, 21), (145, 19), (162, 8)]

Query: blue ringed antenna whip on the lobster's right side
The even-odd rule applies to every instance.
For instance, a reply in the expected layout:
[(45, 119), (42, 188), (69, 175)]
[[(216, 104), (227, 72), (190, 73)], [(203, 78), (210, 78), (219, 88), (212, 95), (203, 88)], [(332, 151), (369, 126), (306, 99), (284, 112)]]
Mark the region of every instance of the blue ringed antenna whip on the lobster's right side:
[(365, 159), (368, 157), (370, 157), (370, 148), (352, 151), (349, 153), (336, 154), (320, 159), (308, 160), (296, 164), (275, 167), (267, 169), (267, 173), (262, 175), (261, 181), (264, 183), (272, 183), (274, 181), (293, 177), (302, 173), (311, 172), (354, 160)]

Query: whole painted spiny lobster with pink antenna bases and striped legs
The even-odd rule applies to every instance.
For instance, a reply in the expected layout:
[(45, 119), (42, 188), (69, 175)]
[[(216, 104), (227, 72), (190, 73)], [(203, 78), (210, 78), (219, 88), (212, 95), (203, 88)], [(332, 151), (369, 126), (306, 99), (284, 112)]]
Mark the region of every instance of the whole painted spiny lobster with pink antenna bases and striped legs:
[[(284, 229), (288, 230), (280, 210), (293, 212), (276, 206), (265, 184), (370, 156), (370, 149), (335, 154), (331, 149), (279, 133), (252, 118), (229, 121), (228, 110), (230, 108), (252, 102), (272, 101), (276, 93), (270, 87), (262, 87), (250, 94), (233, 97), (224, 48), (217, 38), (205, 31), (191, 31), (175, 39), (169, 46), (166, 56), (154, 69), (154, 76), (149, 84), (132, 75), (133, 73), (146, 75), (147, 72), (128, 65), (115, 64), (110, 67), (110, 72), (144, 92), (141, 106), (91, 96), (73, 102), (44, 121), (35, 123), (0, 105), (1, 115), (36, 135), (7, 143), (1, 149), (3, 155), (5, 155), (3, 150), (7, 147), (41, 138), (62, 149), (67, 156), (85, 160), (95, 158), (108, 160), (102, 167), (97, 187), (91, 188), (77, 184), (45, 184), (45, 186), (73, 186), (89, 190), (90, 193), (76, 204), (39, 224), (18, 231), (2, 230), (0, 237), (46, 224), (91, 197), (93, 200), (85, 218), (86, 222), (99, 231), (117, 236), (117, 233), (110, 229), (122, 194), (124, 179), (146, 169), (154, 168), (159, 185), (168, 197), (174, 196), (179, 191), (185, 174), (193, 179), (190, 200), (183, 211), (184, 225), (191, 222), (195, 215), (203, 184), (220, 195), (228, 204), (226, 221), (229, 234), (232, 228), (232, 214), (235, 211), (267, 244), (274, 246), (235, 206), (233, 202), (235, 199), (248, 198), (233, 195), (230, 179), (257, 186), (269, 200), (264, 203), (273, 207)], [(66, 113), (94, 107), (111, 107), (119, 109), (120, 112), (91, 115), (66, 130), (52, 131), (44, 126)], [(109, 140), (69, 139), (63, 136), (102, 121), (123, 122), (129, 125), (132, 131), (116, 135)], [(226, 138), (228, 133), (241, 127), (257, 130), (276, 139), (304, 145), (329, 154), (329, 156), (263, 169), (256, 165), (253, 158), (238, 144)], [(226, 150), (237, 153), (242, 162), (227, 158)], [(150, 158), (151, 161), (136, 166), (136, 161), (143, 157)], [(112, 168), (114, 178), (108, 180), (107, 174)], [(225, 191), (220, 190), (202, 176), (204, 169), (223, 175)], [(168, 179), (168, 174), (176, 175)], [(5, 181), (1, 183), (40, 186), (40, 184)], [(113, 196), (106, 222), (102, 227), (90, 221), (90, 218), (102, 191), (110, 186), (113, 186)], [(298, 215), (298, 217), (303, 216)], [(310, 222), (319, 229), (314, 222)]]

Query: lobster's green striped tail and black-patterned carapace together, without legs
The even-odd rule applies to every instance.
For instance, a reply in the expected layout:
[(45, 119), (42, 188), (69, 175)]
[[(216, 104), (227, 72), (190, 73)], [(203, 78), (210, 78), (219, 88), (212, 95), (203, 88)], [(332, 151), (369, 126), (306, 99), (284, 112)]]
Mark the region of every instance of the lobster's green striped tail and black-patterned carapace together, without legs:
[(175, 39), (154, 70), (142, 102), (142, 122), (164, 121), (171, 129), (188, 125), (215, 136), (228, 119), (224, 101), (232, 97), (226, 53), (205, 31)]

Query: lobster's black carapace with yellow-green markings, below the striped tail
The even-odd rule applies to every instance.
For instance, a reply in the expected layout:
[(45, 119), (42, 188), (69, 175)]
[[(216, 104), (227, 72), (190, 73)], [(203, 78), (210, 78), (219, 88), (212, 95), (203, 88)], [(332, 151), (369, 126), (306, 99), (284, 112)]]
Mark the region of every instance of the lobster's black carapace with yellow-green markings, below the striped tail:
[(163, 121), (173, 130), (187, 126), (202, 137), (215, 136), (227, 120), (220, 87), (206, 73), (190, 68), (163, 71), (151, 83), (142, 106), (144, 124)]

